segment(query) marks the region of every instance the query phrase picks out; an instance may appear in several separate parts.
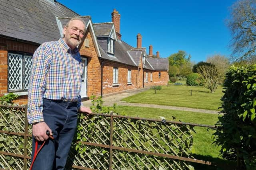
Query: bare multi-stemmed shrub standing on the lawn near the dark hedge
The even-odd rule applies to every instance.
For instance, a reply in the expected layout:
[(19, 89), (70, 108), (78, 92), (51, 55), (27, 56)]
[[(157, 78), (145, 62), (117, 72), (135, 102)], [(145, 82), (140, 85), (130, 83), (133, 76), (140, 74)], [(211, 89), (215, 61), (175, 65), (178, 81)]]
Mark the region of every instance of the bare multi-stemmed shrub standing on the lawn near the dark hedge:
[(199, 66), (197, 71), (204, 78), (204, 87), (208, 88), (211, 93), (214, 93), (224, 80), (224, 74), (214, 65)]

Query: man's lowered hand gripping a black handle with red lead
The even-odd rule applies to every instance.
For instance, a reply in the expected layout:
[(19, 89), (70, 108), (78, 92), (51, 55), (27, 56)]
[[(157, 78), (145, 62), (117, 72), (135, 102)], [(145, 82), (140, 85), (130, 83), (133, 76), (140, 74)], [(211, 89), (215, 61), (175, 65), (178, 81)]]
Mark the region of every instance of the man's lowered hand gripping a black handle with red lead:
[(45, 141), (49, 138), (48, 135), (46, 135), (47, 130), (50, 131), (50, 135), (52, 135), (52, 130), (44, 121), (32, 125), (32, 134), (37, 141)]

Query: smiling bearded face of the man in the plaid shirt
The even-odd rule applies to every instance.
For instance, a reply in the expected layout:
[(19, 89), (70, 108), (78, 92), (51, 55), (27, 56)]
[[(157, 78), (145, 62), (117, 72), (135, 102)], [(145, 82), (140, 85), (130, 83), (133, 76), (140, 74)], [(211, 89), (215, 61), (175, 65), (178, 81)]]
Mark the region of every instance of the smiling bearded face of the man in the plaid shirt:
[(80, 20), (73, 20), (67, 27), (63, 28), (63, 34), (65, 35), (63, 40), (70, 49), (74, 49), (82, 42), (84, 30), (85, 25)]

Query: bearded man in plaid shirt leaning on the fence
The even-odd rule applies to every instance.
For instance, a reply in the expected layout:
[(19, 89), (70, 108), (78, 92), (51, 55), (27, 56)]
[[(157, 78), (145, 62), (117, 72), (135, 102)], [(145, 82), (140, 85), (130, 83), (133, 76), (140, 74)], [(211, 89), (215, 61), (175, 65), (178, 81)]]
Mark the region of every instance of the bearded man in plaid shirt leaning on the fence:
[[(35, 140), (46, 141), (36, 156), (33, 170), (62, 170), (77, 126), (77, 112), (92, 113), (81, 106), (82, 59), (85, 23), (72, 18), (63, 28), (62, 39), (43, 43), (33, 55), (28, 89), (28, 122), (32, 123), (32, 160)], [(54, 140), (49, 139), (50, 131)]]

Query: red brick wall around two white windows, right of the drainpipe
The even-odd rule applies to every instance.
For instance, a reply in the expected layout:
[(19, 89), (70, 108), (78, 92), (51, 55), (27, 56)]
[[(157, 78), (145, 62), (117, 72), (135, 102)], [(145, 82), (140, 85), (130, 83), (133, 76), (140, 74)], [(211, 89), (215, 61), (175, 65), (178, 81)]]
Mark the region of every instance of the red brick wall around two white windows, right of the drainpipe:
[[(113, 84), (113, 67), (118, 68), (118, 84), (119, 86), (112, 86)], [(131, 82), (127, 83), (128, 69), (131, 70)], [(137, 87), (138, 82), (138, 68), (133, 66), (127, 66), (124, 64), (113, 63), (110, 61), (104, 61), (103, 64), (103, 95), (111, 94), (115, 92), (121, 92)]]

